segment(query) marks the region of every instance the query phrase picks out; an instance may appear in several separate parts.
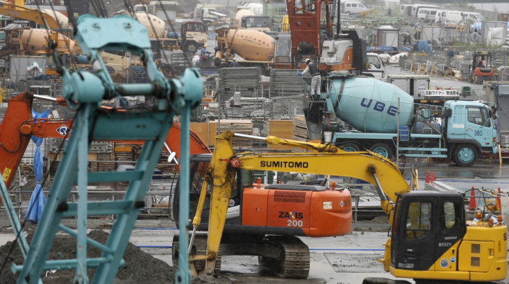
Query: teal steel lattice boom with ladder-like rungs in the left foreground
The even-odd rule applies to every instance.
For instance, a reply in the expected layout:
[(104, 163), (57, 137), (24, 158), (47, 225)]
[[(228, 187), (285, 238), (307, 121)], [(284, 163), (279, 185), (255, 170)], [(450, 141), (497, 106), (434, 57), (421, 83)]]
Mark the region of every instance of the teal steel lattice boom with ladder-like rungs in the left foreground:
[[(203, 83), (198, 71), (189, 68), (180, 80), (172, 79), (169, 82), (165, 79), (152, 59), (147, 30), (127, 15), (113, 18), (80, 16), (76, 39), (82, 51), (99, 71), (97, 75), (82, 71), (68, 73), (55, 56), (64, 82), (62, 95), (77, 114), (44, 212), (26, 252), (25, 262), (23, 265), (11, 267), (12, 272), (19, 272), (17, 283), (37, 283), (41, 273), (47, 269), (76, 269), (73, 283), (89, 283), (90, 279), (86, 275), (88, 267), (97, 268), (92, 283), (113, 283), (118, 268), (124, 263), (122, 255), (129, 243), (138, 212), (145, 205), (145, 193), (176, 111), (180, 112), (182, 123), (181, 176), (189, 176), (190, 111), (199, 105), (203, 93)], [(100, 57), (100, 52), (108, 49), (125, 50), (140, 56), (151, 82), (114, 84)], [(158, 105), (154, 111), (143, 112), (100, 108), (102, 100), (121, 95), (154, 95), (158, 97)], [(133, 171), (91, 172), (87, 169), (87, 155), (92, 140), (144, 140), (144, 144)], [(129, 185), (122, 200), (87, 202), (86, 188), (92, 182), (129, 182)], [(68, 202), (73, 184), (77, 184), (79, 198), (77, 202)], [(187, 207), (184, 207), (187, 210), (188, 192), (187, 189), (187, 196), (184, 194), (182, 197), (187, 198)], [(106, 244), (86, 236), (88, 216), (113, 214), (118, 217), (115, 218)], [(187, 212), (181, 216), (188, 215)], [(60, 223), (62, 218), (69, 217), (77, 218), (77, 231)], [(183, 226), (185, 225), (187, 223), (183, 223)], [(76, 259), (46, 260), (59, 230), (77, 239)], [(20, 242), (26, 248), (26, 240), (21, 238)], [(187, 247), (187, 240), (183, 242), (186, 242), (183, 246)], [(87, 245), (101, 249), (102, 256), (86, 258)], [(185, 263), (179, 267), (185, 269), (179, 269), (178, 279), (187, 283), (190, 282), (187, 254), (183, 254), (181, 258)]]

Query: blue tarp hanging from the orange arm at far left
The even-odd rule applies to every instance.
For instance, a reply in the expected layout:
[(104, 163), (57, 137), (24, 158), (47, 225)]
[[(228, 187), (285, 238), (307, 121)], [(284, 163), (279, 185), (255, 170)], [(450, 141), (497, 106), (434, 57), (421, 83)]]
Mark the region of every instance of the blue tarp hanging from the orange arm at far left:
[[(50, 113), (49, 109), (46, 110), (44, 113), (36, 113), (35, 111), (32, 111), (34, 119), (48, 118), (49, 113)], [(34, 153), (34, 173), (37, 185), (35, 186), (35, 189), (32, 192), (30, 202), (28, 202), (28, 209), (26, 210), (25, 214), (25, 219), (32, 223), (39, 222), (39, 219), (42, 216), (42, 211), (44, 210), (44, 205), (46, 205), (46, 197), (44, 196), (44, 191), (42, 191), (41, 185), (41, 180), (43, 176), (43, 161), (41, 153), (42, 140), (44, 140), (44, 138), (32, 136), (32, 141), (35, 143), (35, 146), (37, 146)]]

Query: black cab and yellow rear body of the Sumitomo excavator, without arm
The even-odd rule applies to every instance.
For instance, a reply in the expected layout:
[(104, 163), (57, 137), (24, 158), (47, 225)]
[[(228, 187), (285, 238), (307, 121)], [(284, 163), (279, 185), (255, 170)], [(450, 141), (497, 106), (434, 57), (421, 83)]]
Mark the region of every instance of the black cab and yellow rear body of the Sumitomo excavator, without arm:
[(492, 212), (467, 220), (464, 198), (459, 192), (436, 191), (398, 198), (388, 242), (391, 274), (426, 282), (506, 278), (506, 225)]

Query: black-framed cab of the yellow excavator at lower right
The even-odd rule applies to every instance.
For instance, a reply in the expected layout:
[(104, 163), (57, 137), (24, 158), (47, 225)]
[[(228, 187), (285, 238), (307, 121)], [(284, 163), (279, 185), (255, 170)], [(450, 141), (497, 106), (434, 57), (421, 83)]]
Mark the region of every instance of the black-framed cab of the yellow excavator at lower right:
[(456, 270), (457, 246), (466, 231), (463, 198), (461, 193), (432, 191), (412, 191), (400, 198), (391, 236), (391, 267)]

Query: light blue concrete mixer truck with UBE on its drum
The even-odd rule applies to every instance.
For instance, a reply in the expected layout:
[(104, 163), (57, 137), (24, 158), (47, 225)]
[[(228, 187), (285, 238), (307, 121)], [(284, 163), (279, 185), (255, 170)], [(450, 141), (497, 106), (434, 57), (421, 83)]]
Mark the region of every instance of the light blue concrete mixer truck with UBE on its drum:
[(416, 104), (392, 84), (340, 74), (328, 77), (324, 87), (304, 111), (310, 140), (387, 158), (450, 158), (461, 167), (497, 153), (491, 110), (481, 102)]

